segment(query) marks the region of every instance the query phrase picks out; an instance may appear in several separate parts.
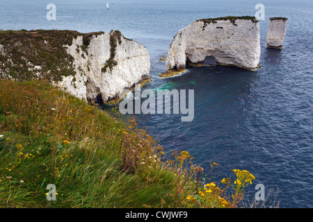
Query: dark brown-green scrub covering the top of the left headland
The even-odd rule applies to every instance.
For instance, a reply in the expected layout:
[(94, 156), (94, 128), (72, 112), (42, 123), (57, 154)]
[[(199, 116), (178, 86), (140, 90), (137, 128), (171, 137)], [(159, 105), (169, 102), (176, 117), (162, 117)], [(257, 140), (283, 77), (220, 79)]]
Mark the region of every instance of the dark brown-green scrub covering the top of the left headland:
[(10, 75), (15, 80), (38, 78), (33, 67), (40, 67), (40, 77), (62, 80), (74, 75), (73, 58), (66, 45), (79, 35), (83, 36), (82, 50), (86, 51), (91, 38), (97, 33), (79, 33), (69, 30), (0, 31), (0, 77)]

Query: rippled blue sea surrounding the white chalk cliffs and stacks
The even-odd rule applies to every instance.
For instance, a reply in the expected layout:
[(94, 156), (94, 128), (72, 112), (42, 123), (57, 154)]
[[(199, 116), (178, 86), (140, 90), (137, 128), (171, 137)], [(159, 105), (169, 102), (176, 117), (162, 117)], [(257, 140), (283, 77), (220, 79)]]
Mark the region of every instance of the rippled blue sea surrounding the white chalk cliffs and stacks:
[[(166, 151), (188, 151), (209, 174), (209, 163), (220, 166), (214, 178), (234, 178), (232, 169), (246, 169), (262, 184), (268, 207), (313, 207), (313, 1), (4, 1), (0, 29), (70, 29), (82, 33), (120, 30), (150, 53), (152, 82), (143, 89), (194, 89), (195, 116), (138, 114)], [(48, 21), (48, 3), (56, 5), (56, 21)], [(175, 78), (159, 78), (159, 58), (177, 31), (196, 19), (227, 15), (254, 16), (263, 3), (260, 69), (190, 67)], [(266, 49), (269, 17), (288, 17), (283, 49)]]

